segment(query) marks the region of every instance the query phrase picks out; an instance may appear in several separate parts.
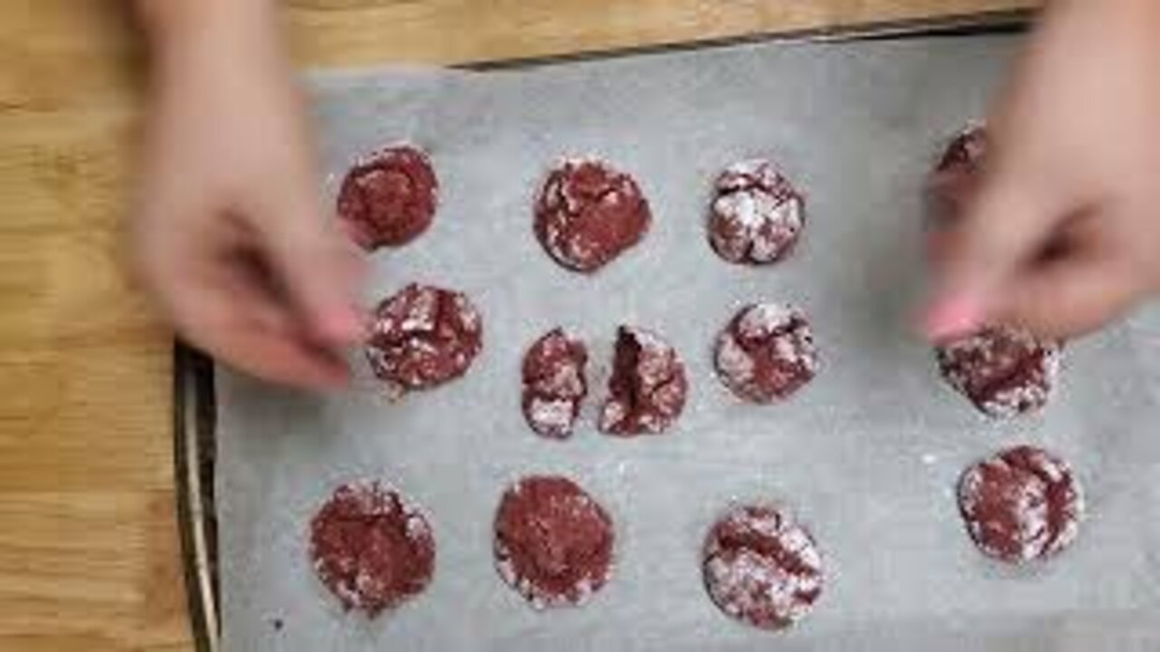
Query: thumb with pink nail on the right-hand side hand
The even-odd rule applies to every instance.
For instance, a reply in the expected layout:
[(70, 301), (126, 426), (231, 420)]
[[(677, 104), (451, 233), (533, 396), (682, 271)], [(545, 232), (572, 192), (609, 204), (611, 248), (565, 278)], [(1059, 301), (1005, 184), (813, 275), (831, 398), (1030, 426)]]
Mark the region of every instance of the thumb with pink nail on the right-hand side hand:
[(1066, 213), (1044, 180), (995, 162), (941, 238), (934, 297), (922, 318), (931, 340), (974, 332), (993, 318), (1006, 288), (1042, 254)]

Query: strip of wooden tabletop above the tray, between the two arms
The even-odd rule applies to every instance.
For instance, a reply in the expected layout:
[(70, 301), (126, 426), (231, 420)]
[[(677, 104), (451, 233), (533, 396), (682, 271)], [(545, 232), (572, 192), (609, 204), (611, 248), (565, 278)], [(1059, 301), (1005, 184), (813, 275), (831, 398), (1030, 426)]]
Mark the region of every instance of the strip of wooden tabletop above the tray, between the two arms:
[[(492, 61), (1027, 8), (1027, 0), (291, 0), (299, 63)], [(389, 35), (389, 36), (387, 36)]]

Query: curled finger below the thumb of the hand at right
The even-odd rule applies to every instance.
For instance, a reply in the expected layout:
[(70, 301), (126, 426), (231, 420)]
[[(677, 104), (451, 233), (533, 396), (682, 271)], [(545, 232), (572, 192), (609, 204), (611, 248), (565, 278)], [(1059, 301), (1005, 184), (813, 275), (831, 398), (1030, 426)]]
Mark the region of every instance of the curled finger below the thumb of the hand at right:
[(1018, 276), (993, 313), (1038, 335), (1066, 339), (1103, 326), (1126, 311), (1141, 290), (1141, 280), (1122, 259), (1085, 252)]

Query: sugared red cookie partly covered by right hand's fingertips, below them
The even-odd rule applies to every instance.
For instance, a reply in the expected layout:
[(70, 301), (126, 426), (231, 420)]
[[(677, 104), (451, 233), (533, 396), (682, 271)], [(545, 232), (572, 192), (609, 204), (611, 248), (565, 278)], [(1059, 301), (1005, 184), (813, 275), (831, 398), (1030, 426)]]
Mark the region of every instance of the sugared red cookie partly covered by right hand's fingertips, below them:
[(1043, 410), (1059, 376), (1059, 343), (994, 326), (935, 349), (942, 375), (979, 410), (1007, 418)]

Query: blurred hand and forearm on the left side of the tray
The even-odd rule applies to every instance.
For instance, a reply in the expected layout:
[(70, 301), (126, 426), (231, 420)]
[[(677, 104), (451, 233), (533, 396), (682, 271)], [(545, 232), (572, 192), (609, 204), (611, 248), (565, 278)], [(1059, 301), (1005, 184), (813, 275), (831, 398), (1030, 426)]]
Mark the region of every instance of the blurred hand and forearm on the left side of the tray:
[(267, 5), (140, 2), (158, 52), (132, 242), (193, 343), (267, 379), (335, 385), (362, 334), (361, 261), (321, 210)]

